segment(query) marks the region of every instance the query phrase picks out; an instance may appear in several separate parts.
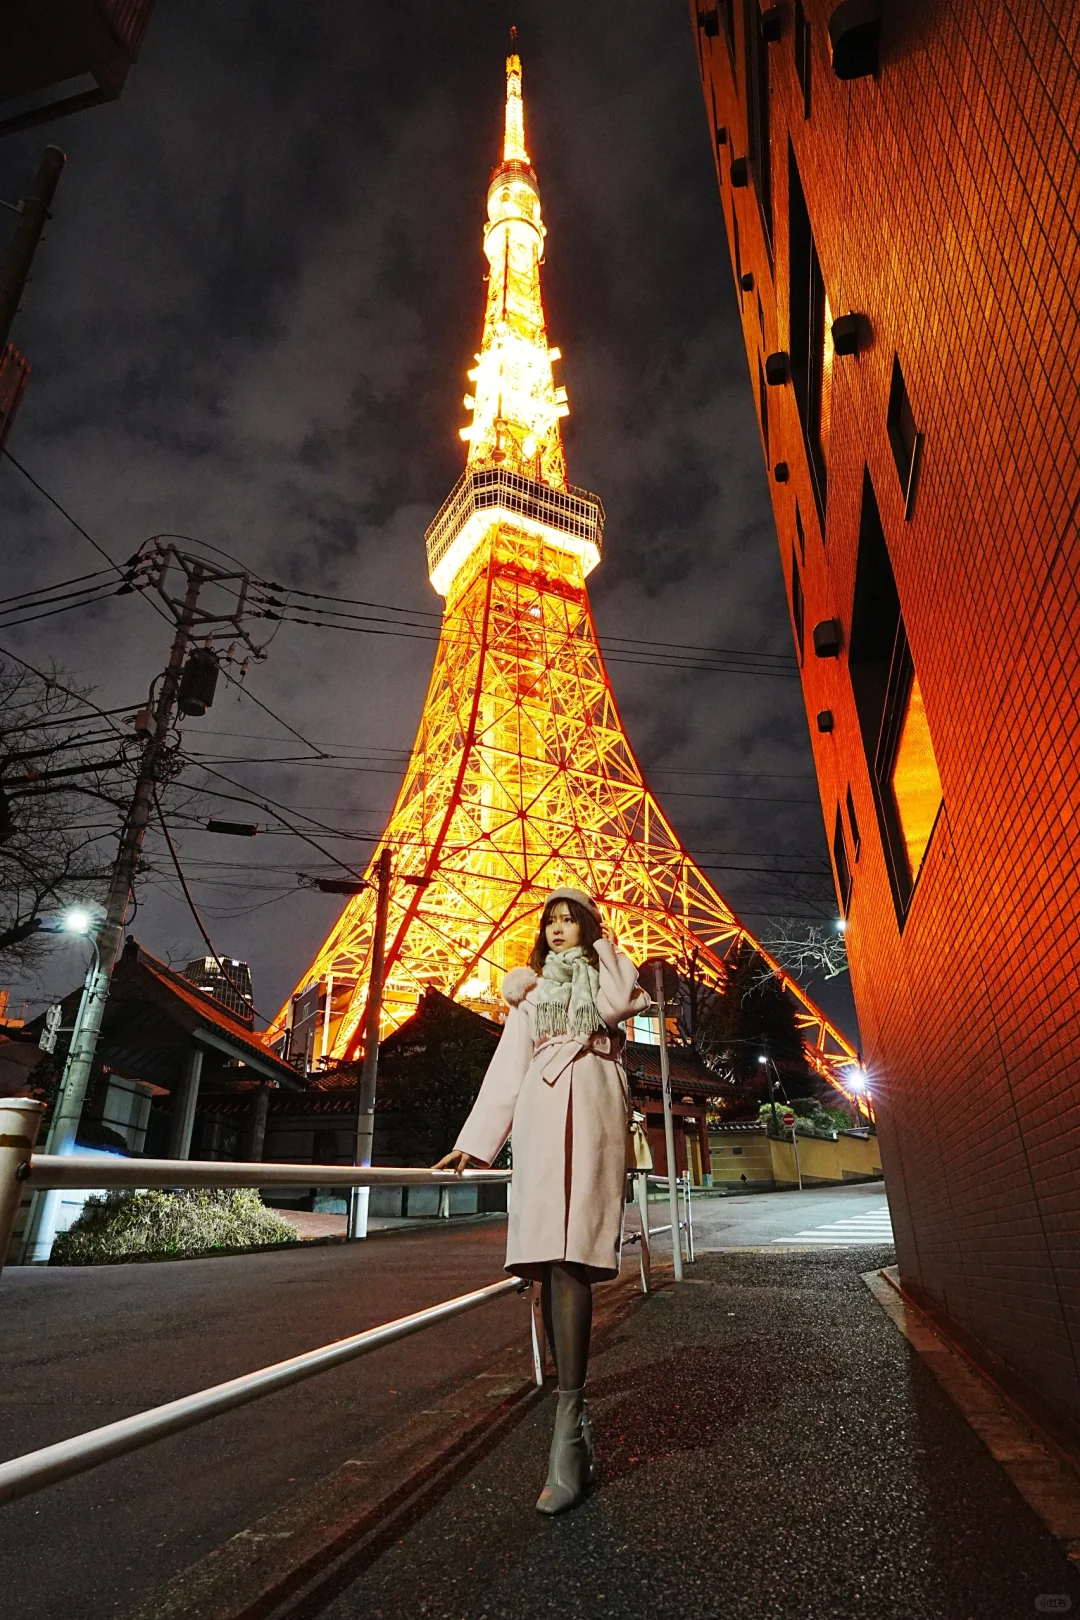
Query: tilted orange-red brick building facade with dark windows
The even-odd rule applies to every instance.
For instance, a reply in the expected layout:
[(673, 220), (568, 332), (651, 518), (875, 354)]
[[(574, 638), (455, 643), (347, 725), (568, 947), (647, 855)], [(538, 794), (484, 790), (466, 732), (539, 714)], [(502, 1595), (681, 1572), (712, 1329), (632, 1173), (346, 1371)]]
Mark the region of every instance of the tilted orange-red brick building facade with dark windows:
[(1080, 11), (691, 23), (900, 1272), (1075, 1422)]

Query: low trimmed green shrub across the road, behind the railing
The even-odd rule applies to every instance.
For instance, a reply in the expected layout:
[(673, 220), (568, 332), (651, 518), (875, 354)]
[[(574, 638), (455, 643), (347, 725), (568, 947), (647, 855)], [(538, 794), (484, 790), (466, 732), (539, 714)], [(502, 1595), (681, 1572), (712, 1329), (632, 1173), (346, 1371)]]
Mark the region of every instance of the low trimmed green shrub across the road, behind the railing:
[(86, 1200), (57, 1236), (52, 1265), (102, 1265), (290, 1243), (296, 1233), (266, 1209), (254, 1187), (185, 1192), (108, 1192)]

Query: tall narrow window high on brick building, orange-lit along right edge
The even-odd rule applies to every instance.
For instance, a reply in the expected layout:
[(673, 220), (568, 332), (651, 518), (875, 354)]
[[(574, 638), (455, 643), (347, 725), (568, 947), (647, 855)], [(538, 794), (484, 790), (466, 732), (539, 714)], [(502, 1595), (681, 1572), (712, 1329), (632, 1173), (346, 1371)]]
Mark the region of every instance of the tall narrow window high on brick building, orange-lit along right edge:
[(792, 387), (806, 441), (811, 483), (824, 531), (832, 428), (832, 311), (810, 228), (806, 198), (789, 146), (789, 293)]

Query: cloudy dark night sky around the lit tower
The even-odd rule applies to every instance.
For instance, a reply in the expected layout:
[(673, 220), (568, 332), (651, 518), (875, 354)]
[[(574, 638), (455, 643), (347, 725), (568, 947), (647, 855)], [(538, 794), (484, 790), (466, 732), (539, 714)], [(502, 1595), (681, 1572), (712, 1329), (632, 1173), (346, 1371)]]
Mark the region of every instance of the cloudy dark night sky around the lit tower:
[[(8, 199), (47, 141), (68, 152), (13, 332), (34, 374), (8, 447), (115, 559), (175, 531), (264, 578), (437, 611), (423, 533), (463, 465), (510, 23), (570, 478), (607, 510), (589, 580), (601, 640), (790, 656), (678, 0), (159, 0), (120, 102), (0, 146)], [(0, 522), (5, 596), (102, 565), (6, 460)], [(167, 642), (139, 596), (0, 635), (105, 708), (142, 701)], [(334, 828), (377, 834), (431, 653), (283, 625), (246, 687), (332, 758), (296, 763), (309, 750), (223, 685), (206, 719), (185, 723), (185, 748)], [(724, 870), (827, 868), (793, 663), (789, 679), (625, 663), (610, 674), (646, 776), (746, 923), (805, 912), (784, 880)], [(233, 763), (254, 758), (275, 763)], [(201, 781), (188, 770), (185, 782)], [(217, 949), (251, 962), (272, 1014), (340, 902), (296, 888), (296, 872), (329, 870), (316, 850), (280, 833), (214, 838), (198, 826), (214, 810), (243, 815), (202, 799), (178, 816), (178, 847)], [(356, 865), (372, 849), (324, 844)], [(147, 847), (131, 932), (183, 964), (204, 946), (160, 839)], [(13, 1001), (68, 988), (83, 954), (57, 943)], [(855, 1034), (847, 980), (811, 991)]]

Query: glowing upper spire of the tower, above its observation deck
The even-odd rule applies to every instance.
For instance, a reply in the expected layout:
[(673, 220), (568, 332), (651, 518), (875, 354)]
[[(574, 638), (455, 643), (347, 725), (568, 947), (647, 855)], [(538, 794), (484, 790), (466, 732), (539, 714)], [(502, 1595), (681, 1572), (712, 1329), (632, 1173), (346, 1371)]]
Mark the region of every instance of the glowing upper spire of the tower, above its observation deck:
[[(513, 44), (513, 39), (512, 39)], [(468, 468), (504, 467), (549, 489), (567, 488), (559, 421), (568, 415), (567, 390), (555, 386), (560, 358), (547, 343), (539, 267), (544, 258), (539, 185), (525, 146), (521, 58), (507, 57), (507, 105), (502, 162), (487, 188), (487, 305), (473, 392), (461, 428)]]

